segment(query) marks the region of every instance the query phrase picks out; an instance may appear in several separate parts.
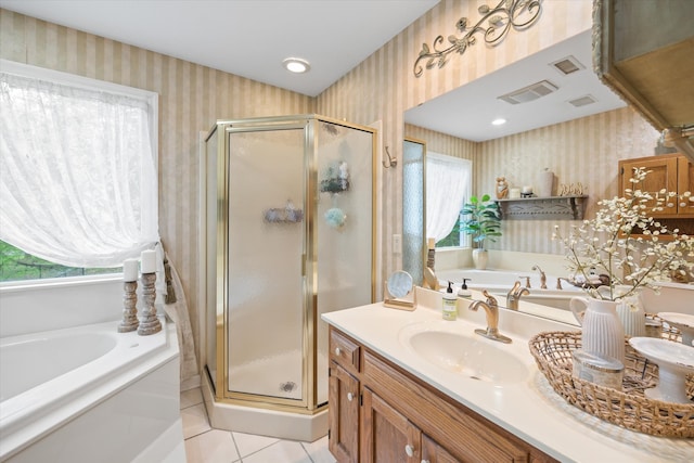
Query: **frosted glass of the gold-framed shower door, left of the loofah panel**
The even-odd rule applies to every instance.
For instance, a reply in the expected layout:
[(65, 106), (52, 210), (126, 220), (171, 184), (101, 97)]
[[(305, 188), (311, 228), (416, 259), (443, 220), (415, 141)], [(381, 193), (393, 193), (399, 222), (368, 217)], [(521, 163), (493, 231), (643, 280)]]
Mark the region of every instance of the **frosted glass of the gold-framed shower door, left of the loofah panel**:
[(304, 130), (232, 131), (229, 153), (229, 390), (300, 399)]

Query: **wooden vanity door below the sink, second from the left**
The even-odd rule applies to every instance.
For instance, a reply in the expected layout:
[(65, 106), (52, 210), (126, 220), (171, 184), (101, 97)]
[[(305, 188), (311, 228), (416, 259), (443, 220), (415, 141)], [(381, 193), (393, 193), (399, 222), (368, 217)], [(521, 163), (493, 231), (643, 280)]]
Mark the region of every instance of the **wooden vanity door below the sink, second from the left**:
[(408, 419), (363, 388), (361, 413), (362, 463), (420, 463), (422, 433)]

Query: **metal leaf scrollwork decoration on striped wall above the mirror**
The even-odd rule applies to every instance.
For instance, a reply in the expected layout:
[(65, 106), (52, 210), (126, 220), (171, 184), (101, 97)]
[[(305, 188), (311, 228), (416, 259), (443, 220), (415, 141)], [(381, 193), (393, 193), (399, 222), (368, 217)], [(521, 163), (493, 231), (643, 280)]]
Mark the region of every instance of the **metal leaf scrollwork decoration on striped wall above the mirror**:
[[(447, 49), (438, 49), (444, 43), (444, 36), (434, 39), (430, 48), (426, 43), (422, 44), (420, 55), (414, 62), (415, 77), (420, 77), (424, 68), (444, 67), (448, 62), (448, 55), (453, 52), (465, 53), (467, 47), (474, 46), (477, 41), (477, 34), (484, 34), (485, 42), (496, 47), (509, 34), (511, 26), (516, 30), (530, 27), (542, 12), (542, 0), (501, 0), (494, 8), (483, 4), (477, 11), (483, 17), (472, 28), (467, 28), (466, 17), (461, 17), (455, 23), (458, 30), (464, 35), (460, 38), (448, 36), (450, 47)], [(488, 26), (485, 27), (483, 24), (486, 22)], [(426, 64), (422, 65), (422, 61)]]

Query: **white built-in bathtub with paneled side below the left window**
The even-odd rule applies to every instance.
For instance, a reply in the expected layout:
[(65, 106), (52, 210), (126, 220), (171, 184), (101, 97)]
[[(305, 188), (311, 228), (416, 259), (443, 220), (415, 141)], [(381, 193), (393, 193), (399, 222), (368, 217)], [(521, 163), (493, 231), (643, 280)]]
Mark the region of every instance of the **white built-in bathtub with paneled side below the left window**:
[[(174, 325), (0, 339), (0, 461), (185, 461)], [(177, 456), (178, 455), (178, 456)]]

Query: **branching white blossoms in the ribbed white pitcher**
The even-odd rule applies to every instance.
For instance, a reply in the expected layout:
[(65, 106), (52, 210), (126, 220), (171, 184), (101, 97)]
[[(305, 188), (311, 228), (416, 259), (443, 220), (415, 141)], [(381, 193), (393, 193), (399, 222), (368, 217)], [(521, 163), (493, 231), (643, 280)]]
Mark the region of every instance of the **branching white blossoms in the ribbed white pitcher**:
[[(591, 282), (594, 274), (606, 275), (599, 284), (586, 284), (590, 296), (597, 299), (629, 298), (641, 288), (658, 292), (658, 283), (672, 275), (694, 276), (694, 236), (679, 234), (648, 216), (663, 210), (663, 205), (677, 193), (660, 190), (655, 196), (639, 187), (650, 171), (634, 169), (632, 189), (626, 197), (602, 200), (592, 220), (574, 226), (564, 237), (558, 226), (552, 240), (564, 244), (567, 268), (575, 280)], [(683, 193), (685, 198), (690, 192)], [(654, 202), (648, 206), (647, 203)], [(667, 235), (667, 240), (664, 236)]]

